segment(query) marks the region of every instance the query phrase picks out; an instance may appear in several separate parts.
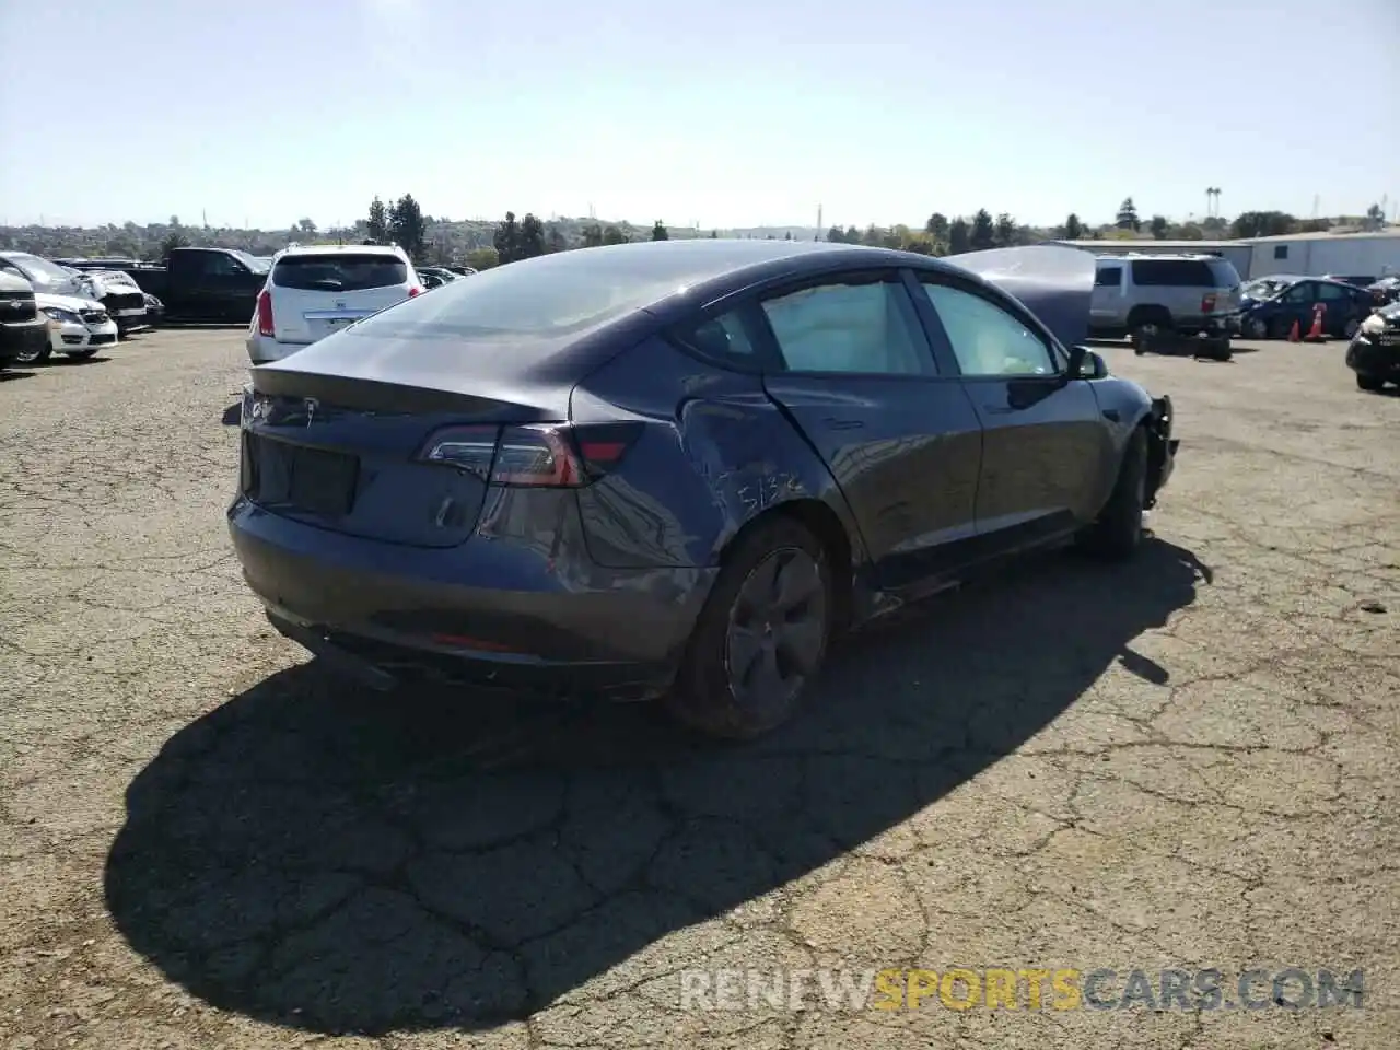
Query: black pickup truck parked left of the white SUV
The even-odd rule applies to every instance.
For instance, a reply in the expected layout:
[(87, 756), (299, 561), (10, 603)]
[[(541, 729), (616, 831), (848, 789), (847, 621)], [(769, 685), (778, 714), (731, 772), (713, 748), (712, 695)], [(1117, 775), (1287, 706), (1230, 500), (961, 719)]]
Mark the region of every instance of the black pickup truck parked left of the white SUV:
[(252, 316), (267, 263), (234, 248), (175, 248), (162, 265), (129, 270), (141, 291), (158, 295), (167, 321), (231, 322)]

